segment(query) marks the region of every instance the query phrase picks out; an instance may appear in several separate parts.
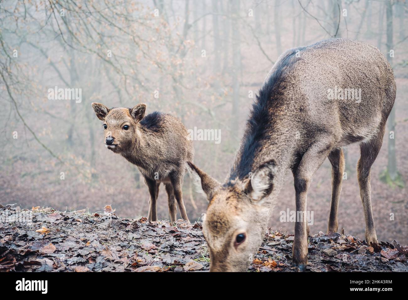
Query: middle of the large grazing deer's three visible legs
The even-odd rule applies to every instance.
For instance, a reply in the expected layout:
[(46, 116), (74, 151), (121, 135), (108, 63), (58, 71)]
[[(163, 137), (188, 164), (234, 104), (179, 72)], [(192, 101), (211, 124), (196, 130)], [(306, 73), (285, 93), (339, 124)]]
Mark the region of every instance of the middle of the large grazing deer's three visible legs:
[(329, 223), (327, 232), (337, 232), (337, 208), (339, 207), (341, 180), (344, 172), (344, 154), (341, 149), (334, 149), (328, 155), (328, 159), (332, 164), (332, 197), (330, 205)]

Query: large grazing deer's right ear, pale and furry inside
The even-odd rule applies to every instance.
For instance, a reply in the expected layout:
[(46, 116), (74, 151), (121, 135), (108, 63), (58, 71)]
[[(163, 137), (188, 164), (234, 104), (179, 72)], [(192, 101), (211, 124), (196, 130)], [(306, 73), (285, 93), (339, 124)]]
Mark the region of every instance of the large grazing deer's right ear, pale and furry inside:
[(273, 190), (275, 172), (276, 165), (274, 160), (261, 164), (246, 184), (245, 193), (254, 201), (260, 201), (268, 197)]

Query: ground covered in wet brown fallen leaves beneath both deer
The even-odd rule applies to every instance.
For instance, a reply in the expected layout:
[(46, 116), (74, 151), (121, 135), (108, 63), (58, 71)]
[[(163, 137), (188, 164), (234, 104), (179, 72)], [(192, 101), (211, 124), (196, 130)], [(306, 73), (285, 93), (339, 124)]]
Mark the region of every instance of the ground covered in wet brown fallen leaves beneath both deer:
[[(149, 222), (104, 213), (0, 205), (0, 271), (208, 271), (201, 223)], [(25, 222), (22, 222), (25, 221)], [(249, 271), (298, 271), (293, 235), (268, 229)], [(350, 235), (309, 236), (307, 271), (408, 271), (408, 247), (373, 249)]]

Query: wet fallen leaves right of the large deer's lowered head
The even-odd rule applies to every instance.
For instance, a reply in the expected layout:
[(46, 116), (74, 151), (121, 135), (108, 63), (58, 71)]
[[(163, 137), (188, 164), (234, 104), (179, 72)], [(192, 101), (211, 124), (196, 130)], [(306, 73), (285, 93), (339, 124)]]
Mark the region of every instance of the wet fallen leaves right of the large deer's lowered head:
[[(344, 233), (344, 231), (343, 231)], [(293, 236), (269, 231), (253, 260), (252, 271), (296, 272), (292, 267)], [(381, 253), (359, 238), (340, 233), (319, 232), (309, 236), (308, 266), (306, 271), (407, 271), (408, 247), (381, 242)], [(276, 263), (276, 266), (275, 266)], [(274, 267), (275, 266), (275, 267)]]

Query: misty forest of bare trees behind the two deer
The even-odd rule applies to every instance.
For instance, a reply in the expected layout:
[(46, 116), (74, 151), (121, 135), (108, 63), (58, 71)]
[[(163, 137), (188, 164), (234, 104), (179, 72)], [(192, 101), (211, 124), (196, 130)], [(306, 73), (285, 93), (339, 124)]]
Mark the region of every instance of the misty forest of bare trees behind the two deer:
[[(91, 102), (146, 102), (146, 113), (171, 113), (188, 129), (221, 129), (220, 144), (194, 142), (195, 163), (221, 181), (278, 56), (327, 38), (351, 38), (377, 46), (394, 69), (397, 99), (371, 173), (372, 203), (379, 240), (407, 244), (406, 16), (405, 0), (1, 1), (0, 203), (91, 212), (111, 204), (121, 217), (147, 215), (143, 178), (104, 147)], [(49, 100), (55, 86), (81, 88), (82, 102)], [(364, 238), (358, 159), (358, 145), (349, 147), (339, 230)], [(326, 160), (308, 194), (310, 233), (327, 229), (330, 176)], [(199, 220), (207, 203), (188, 176), (183, 193), (190, 220)], [(290, 173), (271, 227), (293, 233), (293, 223), (279, 222), (286, 209), (295, 210)], [(158, 217), (169, 219), (163, 186)]]

